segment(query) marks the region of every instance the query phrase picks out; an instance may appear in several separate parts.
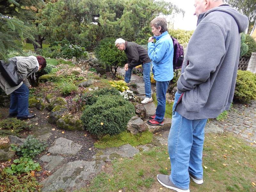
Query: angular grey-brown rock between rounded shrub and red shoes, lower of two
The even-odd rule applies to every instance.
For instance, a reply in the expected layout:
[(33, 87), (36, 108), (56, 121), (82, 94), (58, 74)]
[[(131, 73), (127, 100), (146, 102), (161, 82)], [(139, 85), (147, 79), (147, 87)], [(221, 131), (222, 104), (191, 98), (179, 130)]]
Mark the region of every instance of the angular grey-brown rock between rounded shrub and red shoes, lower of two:
[(127, 124), (127, 130), (133, 135), (147, 130), (146, 123), (137, 116), (133, 116)]

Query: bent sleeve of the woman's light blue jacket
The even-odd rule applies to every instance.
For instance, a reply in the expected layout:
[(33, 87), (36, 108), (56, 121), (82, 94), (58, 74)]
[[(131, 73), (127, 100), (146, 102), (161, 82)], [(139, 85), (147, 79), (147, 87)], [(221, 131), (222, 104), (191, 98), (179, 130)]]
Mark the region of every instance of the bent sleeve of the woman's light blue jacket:
[(149, 42), (148, 43), (148, 57), (154, 62), (158, 63), (164, 57), (165, 52), (168, 49), (168, 45), (163, 41), (158, 43), (157, 45)]

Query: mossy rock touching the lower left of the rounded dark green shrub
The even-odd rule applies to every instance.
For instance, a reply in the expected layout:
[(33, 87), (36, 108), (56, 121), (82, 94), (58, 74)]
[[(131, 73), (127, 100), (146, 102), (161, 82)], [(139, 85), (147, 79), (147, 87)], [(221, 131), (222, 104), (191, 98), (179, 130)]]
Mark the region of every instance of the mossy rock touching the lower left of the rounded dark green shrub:
[(67, 114), (56, 122), (57, 127), (65, 130), (84, 130), (83, 122), (80, 119), (75, 119), (73, 116)]

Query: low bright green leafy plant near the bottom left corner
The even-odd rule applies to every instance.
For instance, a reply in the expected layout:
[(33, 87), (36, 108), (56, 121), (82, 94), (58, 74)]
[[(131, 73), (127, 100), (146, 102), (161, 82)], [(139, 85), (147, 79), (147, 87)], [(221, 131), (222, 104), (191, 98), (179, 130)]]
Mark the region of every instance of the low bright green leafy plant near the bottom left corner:
[(42, 167), (39, 163), (35, 163), (32, 159), (28, 157), (20, 157), (20, 159), (13, 160), (11, 167), (5, 167), (4, 172), (13, 173), (29, 173), (30, 171), (36, 170), (40, 171)]

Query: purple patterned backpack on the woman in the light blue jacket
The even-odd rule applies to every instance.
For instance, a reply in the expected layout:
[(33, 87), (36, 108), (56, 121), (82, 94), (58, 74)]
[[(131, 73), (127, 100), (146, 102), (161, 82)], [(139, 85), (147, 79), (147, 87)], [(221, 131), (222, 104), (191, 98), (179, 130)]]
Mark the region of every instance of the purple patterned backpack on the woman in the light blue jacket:
[(184, 51), (183, 47), (179, 44), (178, 40), (172, 38), (173, 42), (173, 69), (179, 69), (182, 67), (182, 63), (184, 60)]

